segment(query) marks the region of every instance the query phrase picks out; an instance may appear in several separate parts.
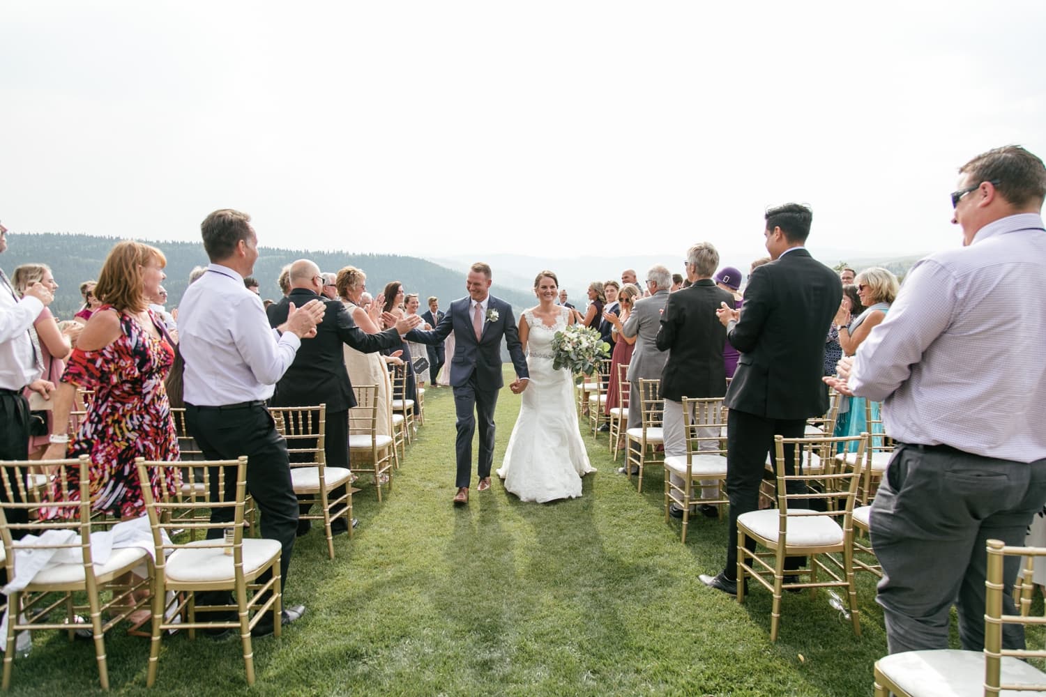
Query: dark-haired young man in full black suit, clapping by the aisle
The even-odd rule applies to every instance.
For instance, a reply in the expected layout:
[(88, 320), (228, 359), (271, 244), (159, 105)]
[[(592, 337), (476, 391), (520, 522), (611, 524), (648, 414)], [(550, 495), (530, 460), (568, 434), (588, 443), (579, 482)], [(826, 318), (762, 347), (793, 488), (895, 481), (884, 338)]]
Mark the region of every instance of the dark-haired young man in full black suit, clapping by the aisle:
[[(727, 417), (726, 568), (701, 575), (707, 585), (736, 593), (737, 516), (758, 507), (759, 483), (774, 436), (800, 438), (809, 417), (828, 411), (821, 374), (824, 338), (842, 300), (835, 272), (803, 247), (813, 211), (786, 204), (766, 213), (767, 251), (773, 259), (752, 272), (744, 309), (724, 302), (717, 311), (727, 339), (741, 352), (724, 400)], [(788, 454), (786, 454), (788, 455)], [(754, 549), (754, 540), (748, 541)], [(797, 560), (788, 560), (795, 567)]]

